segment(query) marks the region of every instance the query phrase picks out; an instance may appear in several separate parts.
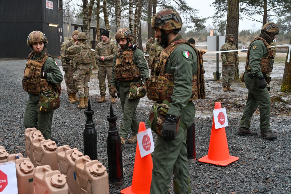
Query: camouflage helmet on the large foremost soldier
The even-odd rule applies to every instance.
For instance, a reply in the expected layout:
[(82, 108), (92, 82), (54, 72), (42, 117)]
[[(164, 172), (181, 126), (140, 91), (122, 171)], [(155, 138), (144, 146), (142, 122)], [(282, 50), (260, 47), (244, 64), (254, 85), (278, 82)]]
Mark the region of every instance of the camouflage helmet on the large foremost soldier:
[(152, 17), (152, 28), (180, 30), (183, 25), (180, 15), (173, 9), (162, 9)]

